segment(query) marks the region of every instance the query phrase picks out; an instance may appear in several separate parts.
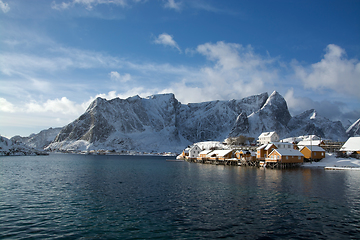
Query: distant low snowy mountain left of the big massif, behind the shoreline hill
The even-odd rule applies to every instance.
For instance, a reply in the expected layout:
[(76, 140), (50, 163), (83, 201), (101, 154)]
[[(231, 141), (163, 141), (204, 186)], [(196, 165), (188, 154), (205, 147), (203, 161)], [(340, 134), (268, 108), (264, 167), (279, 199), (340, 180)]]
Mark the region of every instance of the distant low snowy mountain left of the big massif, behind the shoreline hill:
[(22, 142), (26, 146), (35, 149), (44, 149), (48, 146), (52, 141), (54, 141), (55, 137), (59, 134), (62, 128), (49, 128), (46, 130), (42, 130), (37, 134), (31, 134), (28, 137), (14, 136), (11, 140), (16, 142)]

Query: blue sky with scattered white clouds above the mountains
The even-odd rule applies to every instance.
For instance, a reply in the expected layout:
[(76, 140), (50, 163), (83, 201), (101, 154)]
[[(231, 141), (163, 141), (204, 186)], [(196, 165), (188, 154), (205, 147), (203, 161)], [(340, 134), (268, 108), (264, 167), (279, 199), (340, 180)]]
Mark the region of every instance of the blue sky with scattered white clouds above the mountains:
[(96, 97), (184, 104), (278, 91), (292, 116), (360, 118), (359, 0), (0, 0), (0, 135)]

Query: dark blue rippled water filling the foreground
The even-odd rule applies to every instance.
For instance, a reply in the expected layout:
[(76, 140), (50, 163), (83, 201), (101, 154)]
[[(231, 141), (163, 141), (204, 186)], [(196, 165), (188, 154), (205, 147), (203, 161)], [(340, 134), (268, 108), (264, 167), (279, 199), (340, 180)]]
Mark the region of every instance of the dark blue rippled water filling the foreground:
[(0, 239), (359, 239), (360, 172), (0, 158)]

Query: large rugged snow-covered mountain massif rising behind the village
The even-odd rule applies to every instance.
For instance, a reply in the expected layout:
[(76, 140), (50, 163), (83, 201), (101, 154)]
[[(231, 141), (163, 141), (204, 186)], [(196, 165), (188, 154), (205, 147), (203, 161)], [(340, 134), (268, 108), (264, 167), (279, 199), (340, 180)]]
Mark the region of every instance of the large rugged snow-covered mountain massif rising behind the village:
[(291, 117), (285, 99), (276, 91), (270, 96), (262, 93), (190, 104), (181, 104), (173, 94), (97, 98), (60, 131), (48, 149), (177, 152), (194, 142), (238, 135), (257, 138), (264, 131), (276, 131), (281, 138), (319, 133), (322, 138), (346, 140), (340, 122), (309, 111)]

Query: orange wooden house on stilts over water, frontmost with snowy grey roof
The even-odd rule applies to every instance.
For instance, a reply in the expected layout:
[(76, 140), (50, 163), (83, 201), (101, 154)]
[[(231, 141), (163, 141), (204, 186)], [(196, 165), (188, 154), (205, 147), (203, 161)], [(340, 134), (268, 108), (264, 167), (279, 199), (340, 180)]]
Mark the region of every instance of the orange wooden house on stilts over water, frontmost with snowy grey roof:
[(295, 149), (274, 149), (267, 158), (265, 163), (303, 163), (304, 155)]

